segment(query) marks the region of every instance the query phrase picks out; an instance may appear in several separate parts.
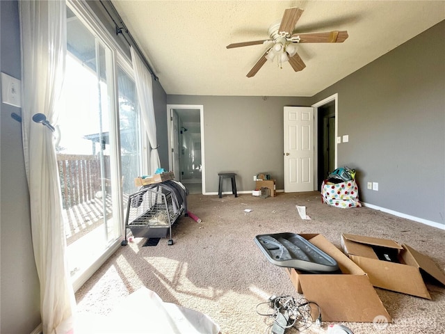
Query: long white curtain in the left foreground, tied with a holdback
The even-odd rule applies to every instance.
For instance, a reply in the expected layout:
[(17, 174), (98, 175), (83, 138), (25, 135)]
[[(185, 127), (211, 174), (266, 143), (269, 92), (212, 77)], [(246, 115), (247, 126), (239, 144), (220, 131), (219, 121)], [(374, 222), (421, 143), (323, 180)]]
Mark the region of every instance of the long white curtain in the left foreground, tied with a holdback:
[[(19, 1), (22, 35), (22, 132), (31, 203), (31, 232), (40, 280), (44, 334), (72, 333), (75, 300), (65, 260), (66, 239), (53, 134), (33, 122), (56, 120), (66, 54), (66, 4)], [(19, 279), (19, 278), (18, 278)]]

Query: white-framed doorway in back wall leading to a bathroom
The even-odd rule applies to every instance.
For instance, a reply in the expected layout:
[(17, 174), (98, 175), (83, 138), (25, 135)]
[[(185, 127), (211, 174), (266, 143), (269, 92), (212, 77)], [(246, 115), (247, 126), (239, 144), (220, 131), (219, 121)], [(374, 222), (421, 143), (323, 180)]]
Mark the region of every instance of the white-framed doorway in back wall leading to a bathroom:
[(169, 166), (189, 193), (204, 193), (202, 106), (168, 105)]

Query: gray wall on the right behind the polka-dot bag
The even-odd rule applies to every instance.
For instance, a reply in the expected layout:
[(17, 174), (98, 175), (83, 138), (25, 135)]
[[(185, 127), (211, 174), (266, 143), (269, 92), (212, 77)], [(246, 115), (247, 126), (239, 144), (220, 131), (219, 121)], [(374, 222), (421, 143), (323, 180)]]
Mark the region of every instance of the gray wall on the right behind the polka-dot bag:
[[(445, 22), (314, 96), (339, 94), (339, 166), (360, 198), (445, 224)], [(366, 189), (378, 182), (378, 191)]]

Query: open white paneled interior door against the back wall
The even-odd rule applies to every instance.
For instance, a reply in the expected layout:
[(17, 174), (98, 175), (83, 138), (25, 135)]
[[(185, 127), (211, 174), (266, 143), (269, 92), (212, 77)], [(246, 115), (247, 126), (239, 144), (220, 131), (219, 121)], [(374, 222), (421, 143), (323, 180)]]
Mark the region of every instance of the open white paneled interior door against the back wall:
[(314, 191), (314, 108), (284, 107), (284, 192)]

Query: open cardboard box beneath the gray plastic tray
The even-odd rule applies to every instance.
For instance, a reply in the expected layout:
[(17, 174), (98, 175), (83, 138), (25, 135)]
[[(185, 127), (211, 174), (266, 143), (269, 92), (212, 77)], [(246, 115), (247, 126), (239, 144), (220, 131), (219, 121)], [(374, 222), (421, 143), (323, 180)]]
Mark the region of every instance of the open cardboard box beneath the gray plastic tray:
[(299, 234), (337, 261), (341, 273), (302, 273), (286, 268), (293, 286), (321, 308), (323, 321), (373, 322), (391, 317), (366, 273), (321, 234)]

